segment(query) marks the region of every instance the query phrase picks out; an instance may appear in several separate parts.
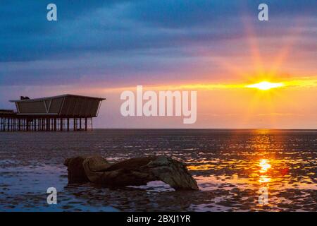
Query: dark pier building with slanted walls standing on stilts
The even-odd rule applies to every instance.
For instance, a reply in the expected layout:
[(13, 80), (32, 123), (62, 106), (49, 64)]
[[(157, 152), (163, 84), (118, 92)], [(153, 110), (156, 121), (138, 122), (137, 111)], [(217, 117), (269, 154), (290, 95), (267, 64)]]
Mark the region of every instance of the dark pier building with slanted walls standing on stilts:
[(0, 109), (0, 131), (88, 131), (105, 98), (59, 95), (10, 100), (16, 112)]

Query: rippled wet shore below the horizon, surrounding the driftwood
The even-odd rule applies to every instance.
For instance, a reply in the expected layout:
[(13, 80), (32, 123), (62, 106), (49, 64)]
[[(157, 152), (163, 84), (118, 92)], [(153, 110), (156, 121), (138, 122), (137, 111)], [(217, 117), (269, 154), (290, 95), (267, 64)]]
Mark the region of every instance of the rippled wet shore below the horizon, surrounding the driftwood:
[[(111, 190), (68, 186), (66, 157), (116, 162), (168, 155), (187, 163), (200, 191), (163, 182)], [(317, 131), (141, 130), (0, 133), (3, 211), (317, 211)], [(58, 204), (46, 204), (46, 189)], [(268, 204), (259, 204), (268, 189)]]

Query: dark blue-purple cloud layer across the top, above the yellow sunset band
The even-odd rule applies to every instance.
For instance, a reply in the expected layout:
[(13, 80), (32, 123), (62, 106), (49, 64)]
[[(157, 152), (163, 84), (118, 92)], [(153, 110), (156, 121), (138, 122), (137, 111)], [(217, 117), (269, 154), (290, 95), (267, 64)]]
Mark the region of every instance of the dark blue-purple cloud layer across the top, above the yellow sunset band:
[[(58, 6), (57, 22), (46, 20), (46, 5), (51, 2)], [(178, 76), (189, 66), (202, 66), (197, 62), (199, 48), (230, 57), (247, 47), (246, 26), (261, 38), (282, 38), (298, 18), (310, 21), (304, 24), (308, 41), (302, 47), (312, 52), (316, 0), (265, 1), (269, 23), (257, 20), (260, 3), (1, 1), (0, 83), (63, 84), (87, 76), (121, 81), (149, 73)]]

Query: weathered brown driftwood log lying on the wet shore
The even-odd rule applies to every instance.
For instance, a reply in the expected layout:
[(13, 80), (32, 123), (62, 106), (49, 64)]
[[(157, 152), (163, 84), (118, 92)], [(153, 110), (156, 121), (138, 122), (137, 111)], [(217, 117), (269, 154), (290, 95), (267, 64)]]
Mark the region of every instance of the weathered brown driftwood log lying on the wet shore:
[(175, 190), (198, 190), (197, 182), (183, 162), (166, 156), (137, 157), (111, 164), (99, 155), (70, 157), (68, 183), (93, 182), (103, 186), (145, 185), (161, 180)]

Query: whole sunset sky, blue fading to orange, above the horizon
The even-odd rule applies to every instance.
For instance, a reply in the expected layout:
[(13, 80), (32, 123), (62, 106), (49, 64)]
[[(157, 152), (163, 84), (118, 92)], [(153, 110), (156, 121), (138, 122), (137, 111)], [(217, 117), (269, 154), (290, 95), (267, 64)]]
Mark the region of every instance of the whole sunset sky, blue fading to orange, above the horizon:
[[(317, 129), (316, 0), (4, 0), (0, 30), (0, 108), (72, 93), (107, 98), (99, 128)], [(122, 117), (136, 85), (197, 90), (197, 122)]]

